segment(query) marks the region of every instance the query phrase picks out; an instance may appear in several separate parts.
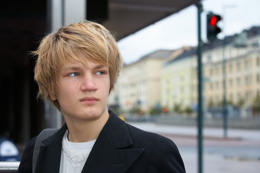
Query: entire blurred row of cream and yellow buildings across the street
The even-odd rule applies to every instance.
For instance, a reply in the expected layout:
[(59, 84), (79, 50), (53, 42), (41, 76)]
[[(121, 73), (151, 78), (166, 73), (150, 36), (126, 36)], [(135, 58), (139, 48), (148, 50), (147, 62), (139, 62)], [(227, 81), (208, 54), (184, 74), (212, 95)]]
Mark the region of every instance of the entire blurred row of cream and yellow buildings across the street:
[[(225, 43), (215, 40), (203, 47), (206, 114), (222, 115), (225, 78), (229, 116), (258, 115), (260, 27), (224, 39)], [(197, 49), (186, 46), (177, 50), (157, 50), (124, 65), (114, 94), (122, 112), (150, 114), (158, 110), (158, 114), (191, 114), (197, 111), (197, 86)]]

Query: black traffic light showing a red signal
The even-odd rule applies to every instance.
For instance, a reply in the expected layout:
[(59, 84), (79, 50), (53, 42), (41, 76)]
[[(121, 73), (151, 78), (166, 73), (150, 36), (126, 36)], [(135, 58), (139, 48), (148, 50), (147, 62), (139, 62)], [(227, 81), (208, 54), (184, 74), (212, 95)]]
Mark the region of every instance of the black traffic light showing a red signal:
[(207, 38), (211, 42), (216, 39), (218, 33), (221, 29), (217, 26), (217, 22), (221, 20), (221, 16), (213, 14), (212, 12), (207, 14)]

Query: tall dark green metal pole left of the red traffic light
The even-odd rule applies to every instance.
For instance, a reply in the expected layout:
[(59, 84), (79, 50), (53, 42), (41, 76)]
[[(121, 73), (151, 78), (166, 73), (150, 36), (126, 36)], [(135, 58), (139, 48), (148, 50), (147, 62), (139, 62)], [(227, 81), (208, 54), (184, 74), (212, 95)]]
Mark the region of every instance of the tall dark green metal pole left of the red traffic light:
[(196, 6), (198, 8), (198, 173), (203, 173), (203, 67), (201, 39), (202, 3), (198, 2)]

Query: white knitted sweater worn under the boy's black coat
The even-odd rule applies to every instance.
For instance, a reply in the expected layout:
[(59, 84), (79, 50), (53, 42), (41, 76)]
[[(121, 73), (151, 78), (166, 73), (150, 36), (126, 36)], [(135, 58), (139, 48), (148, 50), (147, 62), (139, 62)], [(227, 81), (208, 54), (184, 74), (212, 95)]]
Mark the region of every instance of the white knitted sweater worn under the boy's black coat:
[(59, 173), (81, 173), (96, 140), (70, 142), (67, 136), (68, 130), (62, 139)]

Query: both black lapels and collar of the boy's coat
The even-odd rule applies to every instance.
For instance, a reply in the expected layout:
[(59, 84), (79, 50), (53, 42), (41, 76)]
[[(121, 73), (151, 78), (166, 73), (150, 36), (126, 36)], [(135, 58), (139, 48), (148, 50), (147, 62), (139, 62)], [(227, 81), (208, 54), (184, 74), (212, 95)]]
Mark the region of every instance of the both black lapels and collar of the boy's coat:
[[(99, 134), (82, 173), (125, 173), (143, 153), (144, 148), (132, 148), (133, 140), (125, 122), (112, 111)], [(66, 124), (49, 138), (43, 140), (36, 165), (36, 173), (58, 173), (61, 141)], [(48, 165), (48, 167), (46, 166)]]

